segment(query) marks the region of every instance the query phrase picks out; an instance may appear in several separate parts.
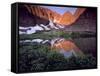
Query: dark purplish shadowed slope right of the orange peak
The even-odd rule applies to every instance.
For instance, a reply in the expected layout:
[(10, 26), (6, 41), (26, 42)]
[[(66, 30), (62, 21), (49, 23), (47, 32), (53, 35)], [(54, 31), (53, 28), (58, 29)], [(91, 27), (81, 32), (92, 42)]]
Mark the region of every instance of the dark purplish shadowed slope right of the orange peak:
[(88, 7), (74, 23), (66, 27), (66, 31), (96, 32), (96, 25), (97, 25), (97, 9)]

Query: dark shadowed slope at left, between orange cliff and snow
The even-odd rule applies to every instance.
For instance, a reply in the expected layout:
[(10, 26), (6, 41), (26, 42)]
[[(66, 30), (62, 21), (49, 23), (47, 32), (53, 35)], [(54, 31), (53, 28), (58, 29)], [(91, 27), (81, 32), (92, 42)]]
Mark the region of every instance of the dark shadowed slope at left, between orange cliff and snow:
[(19, 5), (19, 26), (28, 27), (36, 24), (48, 24), (49, 20), (31, 14), (24, 5)]

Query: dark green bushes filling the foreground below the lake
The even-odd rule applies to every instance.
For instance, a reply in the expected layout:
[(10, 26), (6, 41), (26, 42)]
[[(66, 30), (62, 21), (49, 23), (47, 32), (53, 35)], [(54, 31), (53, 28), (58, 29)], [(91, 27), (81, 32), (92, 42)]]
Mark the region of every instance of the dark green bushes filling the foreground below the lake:
[(49, 46), (20, 45), (19, 66), (19, 72), (94, 68), (96, 59), (91, 55), (65, 58)]

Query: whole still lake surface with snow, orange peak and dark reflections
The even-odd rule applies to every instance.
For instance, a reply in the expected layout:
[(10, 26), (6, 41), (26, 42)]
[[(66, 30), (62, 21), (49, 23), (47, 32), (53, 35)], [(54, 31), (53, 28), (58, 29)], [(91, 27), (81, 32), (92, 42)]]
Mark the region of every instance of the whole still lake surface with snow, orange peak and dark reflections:
[(55, 49), (57, 52), (63, 54), (65, 57), (74, 56), (84, 56), (85, 54), (92, 54), (96, 56), (96, 38), (54, 38), (52, 40), (44, 39), (33, 39), (33, 40), (21, 40), (20, 43), (23, 44), (47, 44), (50, 46), (51, 51)]

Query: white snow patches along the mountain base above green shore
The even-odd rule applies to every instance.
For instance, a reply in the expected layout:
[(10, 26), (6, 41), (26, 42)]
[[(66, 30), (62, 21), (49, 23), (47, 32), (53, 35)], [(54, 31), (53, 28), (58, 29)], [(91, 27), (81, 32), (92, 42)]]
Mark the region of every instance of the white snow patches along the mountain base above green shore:
[[(19, 34), (32, 34), (36, 33), (37, 31), (43, 31), (43, 30), (51, 30), (51, 29), (60, 29), (64, 28), (64, 26), (61, 26), (59, 24), (54, 24), (52, 20), (49, 20), (48, 25), (44, 24), (36, 24), (36, 26), (29, 26), (29, 27), (19, 27)], [(24, 30), (24, 31), (21, 31)]]

